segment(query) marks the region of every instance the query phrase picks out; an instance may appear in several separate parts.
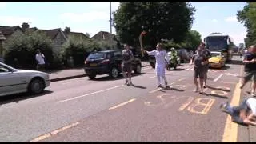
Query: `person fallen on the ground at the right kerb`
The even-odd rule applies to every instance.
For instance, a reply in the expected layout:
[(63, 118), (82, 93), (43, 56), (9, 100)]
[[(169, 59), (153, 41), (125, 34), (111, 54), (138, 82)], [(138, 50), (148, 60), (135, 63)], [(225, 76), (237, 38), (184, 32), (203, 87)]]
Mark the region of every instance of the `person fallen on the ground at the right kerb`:
[(220, 108), (230, 114), (232, 121), (242, 125), (256, 126), (256, 99), (246, 98), (239, 106), (230, 106), (229, 102), (222, 103)]

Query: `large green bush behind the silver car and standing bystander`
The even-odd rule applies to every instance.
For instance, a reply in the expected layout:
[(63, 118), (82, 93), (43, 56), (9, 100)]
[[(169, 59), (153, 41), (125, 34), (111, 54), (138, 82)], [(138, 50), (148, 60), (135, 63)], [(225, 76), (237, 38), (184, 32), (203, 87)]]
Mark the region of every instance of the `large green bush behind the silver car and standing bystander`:
[(20, 67), (34, 69), (37, 62), (35, 60), (36, 50), (40, 49), (46, 57), (46, 63), (54, 66), (58, 62), (53, 54), (53, 42), (47, 38), (46, 34), (35, 31), (32, 34), (14, 34), (7, 39), (5, 48), (5, 62), (14, 65), (14, 59), (18, 60)]

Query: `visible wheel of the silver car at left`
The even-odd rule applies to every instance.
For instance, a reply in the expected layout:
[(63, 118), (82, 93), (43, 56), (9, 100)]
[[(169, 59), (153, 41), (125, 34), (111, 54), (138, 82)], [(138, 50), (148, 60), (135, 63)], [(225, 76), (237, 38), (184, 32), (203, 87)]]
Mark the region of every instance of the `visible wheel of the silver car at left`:
[(45, 89), (45, 83), (40, 78), (35, 78), (30, 82), (29, 92), (30, 94), (40, 94)]

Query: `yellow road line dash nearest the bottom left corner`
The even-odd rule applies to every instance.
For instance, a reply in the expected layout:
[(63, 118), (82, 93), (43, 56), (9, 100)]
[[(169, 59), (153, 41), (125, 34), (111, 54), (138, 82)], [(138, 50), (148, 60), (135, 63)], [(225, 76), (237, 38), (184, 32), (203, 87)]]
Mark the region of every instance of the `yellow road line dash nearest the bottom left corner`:
[(60, 132), (63, 131), (63, 130), (70, 129), (70, 128), (73, 127), (73, 126), (77, 126), (78, 124), (79, 124), (79, 122), (74, 122), (74, 123), (72, 123), (72, 124), (70, 124), (70, 125), (68, 125), (68, 126), (64, 126), (64, 127), (60, 128), (60, 129), (58, 129), (58, 130), (54, 130), (54, 131), (52, 131), (52, 132), (50, 132), (50, 133), (43, 134), (43, 135), (39, 136), (38, 138), (34, 138), (34, 139), (30, 140), (30, 142), (39, 142), (39, 141), (42, 141), (43, 139), (50, 138), (50, 137), (53, 136), (54, 134), (58, 134), (58, 133), (60, 133)]

